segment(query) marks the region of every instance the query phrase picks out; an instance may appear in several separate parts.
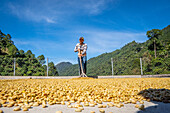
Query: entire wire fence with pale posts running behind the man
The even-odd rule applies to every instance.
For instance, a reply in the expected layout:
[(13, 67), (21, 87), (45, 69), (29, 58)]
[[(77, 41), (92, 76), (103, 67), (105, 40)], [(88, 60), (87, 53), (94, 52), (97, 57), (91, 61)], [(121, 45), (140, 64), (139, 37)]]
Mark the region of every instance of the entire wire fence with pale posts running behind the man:
[[(77, 59), (68, 59), (59, 65), (61, 59), (46, 58), (43, 63), (35, 58), (0, 57), (0, 76), (78, 76)], [(56, 65), (58, 64), (58, 65)], [(97, 65), (100, 64), (100, 65)], [(162, 59), (150, 61), (148, 58), (109, 58), (107, 61), (87, 63), (87, 75), (143, 75), (169, 74), (170, 65)]]

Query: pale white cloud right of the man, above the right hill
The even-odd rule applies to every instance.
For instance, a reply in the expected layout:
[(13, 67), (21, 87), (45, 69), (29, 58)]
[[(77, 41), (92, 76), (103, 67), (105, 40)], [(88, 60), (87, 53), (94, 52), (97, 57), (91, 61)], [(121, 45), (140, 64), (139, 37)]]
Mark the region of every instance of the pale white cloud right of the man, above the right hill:
[(112, 52), (133, 40), (136, 42), (147, 40), (144, 32), (89, 30), (77, 31), (77, 33), (85, 34), (85, 42), (88, 44), (90, 56)]

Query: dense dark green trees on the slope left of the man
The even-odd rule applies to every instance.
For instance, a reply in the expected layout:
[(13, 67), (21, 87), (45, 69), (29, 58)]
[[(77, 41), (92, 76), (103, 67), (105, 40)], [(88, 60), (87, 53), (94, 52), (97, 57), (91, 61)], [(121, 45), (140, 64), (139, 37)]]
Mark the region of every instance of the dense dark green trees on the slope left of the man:
[[(14, 59), (15, 58), (15, 59)], [(5, 35), (0, 31), (0, 75), (13, 75), (15, 64), (15, 75), (20, 76), (45, 76), (47, 66), (44, 55), (37, 58), (28, 50), (18, 50), (11, 40), (9, 34)], [(49, 64), (49, 76), (57, 76), (58, 72), (53, 62)]]

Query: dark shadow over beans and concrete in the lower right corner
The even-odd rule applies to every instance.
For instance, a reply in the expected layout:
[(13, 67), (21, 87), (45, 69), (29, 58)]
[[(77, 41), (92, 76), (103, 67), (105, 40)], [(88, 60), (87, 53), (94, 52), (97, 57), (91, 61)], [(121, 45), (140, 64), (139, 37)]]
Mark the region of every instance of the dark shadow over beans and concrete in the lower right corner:
[(145, 89), (139, 92), (144, 98), (154, 103), (154, 106), (146, 107), (137, 113), (170, 113), (170, 90), (169, 89)]

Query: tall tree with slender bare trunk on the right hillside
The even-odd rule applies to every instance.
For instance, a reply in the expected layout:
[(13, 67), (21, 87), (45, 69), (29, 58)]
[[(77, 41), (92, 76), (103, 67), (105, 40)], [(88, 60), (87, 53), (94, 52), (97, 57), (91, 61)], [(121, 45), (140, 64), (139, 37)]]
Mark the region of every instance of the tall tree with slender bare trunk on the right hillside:
[(154, 42), (155, 58), (156, 58), (156, 41), (161, 34), (162, 34), (162, 31), (159, 29), (152, 29), (150, 31), (147, 31), (147, 33), (146, 33), (149, 40)]

